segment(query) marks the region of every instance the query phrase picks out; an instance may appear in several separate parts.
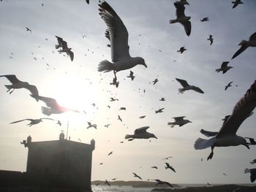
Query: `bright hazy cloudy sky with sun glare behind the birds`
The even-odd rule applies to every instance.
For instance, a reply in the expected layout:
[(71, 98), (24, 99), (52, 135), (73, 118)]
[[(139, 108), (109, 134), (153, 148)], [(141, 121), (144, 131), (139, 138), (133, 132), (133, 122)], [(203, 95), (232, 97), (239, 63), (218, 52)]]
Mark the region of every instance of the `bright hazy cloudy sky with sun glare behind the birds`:
[[(143, 180), (170, 183), (250, 183), (244, 169), (255, 167), (249, 163), (256, 158), (255, 146), (250, 150), (244, 146), (215, 147), (214, 157), (206, 161), (211, 149), (195, 150), (194, 143), (198, 137), (205, 138), (200, 134), (201, 128), (219, 131), (222, 118), (233, 111), (256, 79), (254, 47), (231, 60), (238, 43), (256, 31), (252, 25), (256, 2), (244, 0), (244, 4), (232, 9), (231, 0), (189, 1), (190, 6), (185, 9), (185, 14), (191, 16), (189, 37), (179, 23), (169, 23), (176, 18), (173, 2), (108, 1), (127, 27), (130, 55), (144, 58), (148, 66), (132, 68), (133, 81), (127, 78), (129, 70), (118, 72), (120, 83), (116, 88), (110, 85), (113, 72), (97, 71), (100, 61), (111, 61), (109, 41), (105, 38), (107, 26), (99, 16), (98, 1), (1, 1), (0, 75), (15, 74), (19, 80), (36, 85), (40, 96), (54, 98), (80, 112), (47, 117), (41, 112), (41, 106), (45, 106), (42, 101), (32, 99), (25, 89), (7, 93), (4, 85), (10, 82), (1, 77), (0, 169), (26, 172), (28, 149), (20, 141), (29, 135), (34, 142), (59, 139), (61, 130), (67, 134), (69, 123), (68, 136), (72, 141), (96, 142), (91, 180), (138, 180), (133, 177), (135, 172)], [(205, 17), (209, 21), (200, 22)], [(212, 45), (207, 41), (209, 34), (214, 38)], [(72, 47), (74, 61), (58, 53), (55, 36)], [(178, 53), (183, 46), (187, 50)], [(223, 61), (230, 61), (233, 69), (225, 74), (215, 72)], [(153, 85), (156, 78), (159, 82)], [(181, 85), (175, 78), (187, 80), (204, 93), (178, 94)], [(233, 86), (225, 91), (225, 85), (231, 81)], [(110, 101), (110, 97), (118, 101)], [(162, 97), (165, 101), (159, 101)], [(119, 110), (120, 107), (127, 110)], [(160, 108), (165, 109), (156, 114)], [(123, 122), (117, 120), (118, 115)], [(140, 119), (142, 115), (146, 118)], [(192, 123), (167, 126), (178, 116), (186, 116)], [(53, 118), (61, 120), (62, 126), (53, 120), (31, 127), (26, 126), (29, 121), (10, 124), (26, 118)], [(88, 121), (97, 124), (97, 129), (86, 128)], [(111, 125), (106, 128), (108, 123)], [(252, 115), (237, 134), (255, 138), (255, 124)], [(142, 126), (150, 126), (148, 131), (158, 139), (124, 139)], [(108, 156), (110, 151), (113, 155)], [(167, 156), (173, 158), (162, 160)], [(176, 173), (165, 169), (165, 162)]]

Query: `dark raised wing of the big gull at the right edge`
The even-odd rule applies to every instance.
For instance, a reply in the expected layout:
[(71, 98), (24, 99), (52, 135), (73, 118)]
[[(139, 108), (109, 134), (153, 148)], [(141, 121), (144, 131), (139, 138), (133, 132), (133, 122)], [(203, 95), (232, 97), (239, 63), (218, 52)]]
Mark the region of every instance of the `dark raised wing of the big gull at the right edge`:
[(256, 80), (233, 108), (233, 113), (222, 126), (217, 137), (227, 134), (236, 134), (241, 123), (252, 113), (256, 107)]

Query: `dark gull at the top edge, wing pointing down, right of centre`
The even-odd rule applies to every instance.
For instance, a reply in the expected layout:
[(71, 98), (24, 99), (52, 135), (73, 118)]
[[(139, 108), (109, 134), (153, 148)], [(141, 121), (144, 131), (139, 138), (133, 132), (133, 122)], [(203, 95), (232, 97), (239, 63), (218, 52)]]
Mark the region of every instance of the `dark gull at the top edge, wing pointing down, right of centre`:
[(187, 36), (189, 36), (191, 33), (191, 23), (190, 23), (189, 19), (191, 17), (187, 17), (184, 14), (185, 7), (184, 7), (184, 4), (182, 4), (180, 2), (181, 1), (176, 1), (174, 3), (174, 6), (176, 7), (177, 18), (175, 20), (170, 20), (170, 23), (181, 23), (181, 25), (184, 26)]

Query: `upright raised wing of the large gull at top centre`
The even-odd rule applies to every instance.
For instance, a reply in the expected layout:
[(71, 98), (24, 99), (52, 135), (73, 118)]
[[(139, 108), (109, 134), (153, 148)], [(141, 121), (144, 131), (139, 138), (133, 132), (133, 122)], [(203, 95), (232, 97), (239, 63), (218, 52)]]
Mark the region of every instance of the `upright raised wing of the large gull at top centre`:
[(104, 1), (99, 4), (99, 15), (105, 21), (110, 33), (112, 61), (129, 58), (128, 31), (114, 9)]

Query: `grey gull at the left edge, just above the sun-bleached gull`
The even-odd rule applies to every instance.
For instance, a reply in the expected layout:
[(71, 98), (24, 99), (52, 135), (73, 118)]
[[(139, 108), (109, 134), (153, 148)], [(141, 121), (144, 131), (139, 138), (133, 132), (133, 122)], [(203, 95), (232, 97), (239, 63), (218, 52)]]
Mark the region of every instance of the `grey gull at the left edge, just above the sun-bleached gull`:
[(12, 91), (10, 91), (10, 94), (15, 89), (26, 88), (27, 90), (30, 91), (30, 93), (32, 95), (38, 96), (37, 87), (35, 85), (30, 85), (29, 82), (23, 82), (23, 81), (18, 80), (18, 78), (14, 74), (0, 75), (0, 77), (6, 77), (7, 80), (12, 82), (12, 85), (4, 85), (8, 89), (7, 92), (9, 92), (12, 89)]

